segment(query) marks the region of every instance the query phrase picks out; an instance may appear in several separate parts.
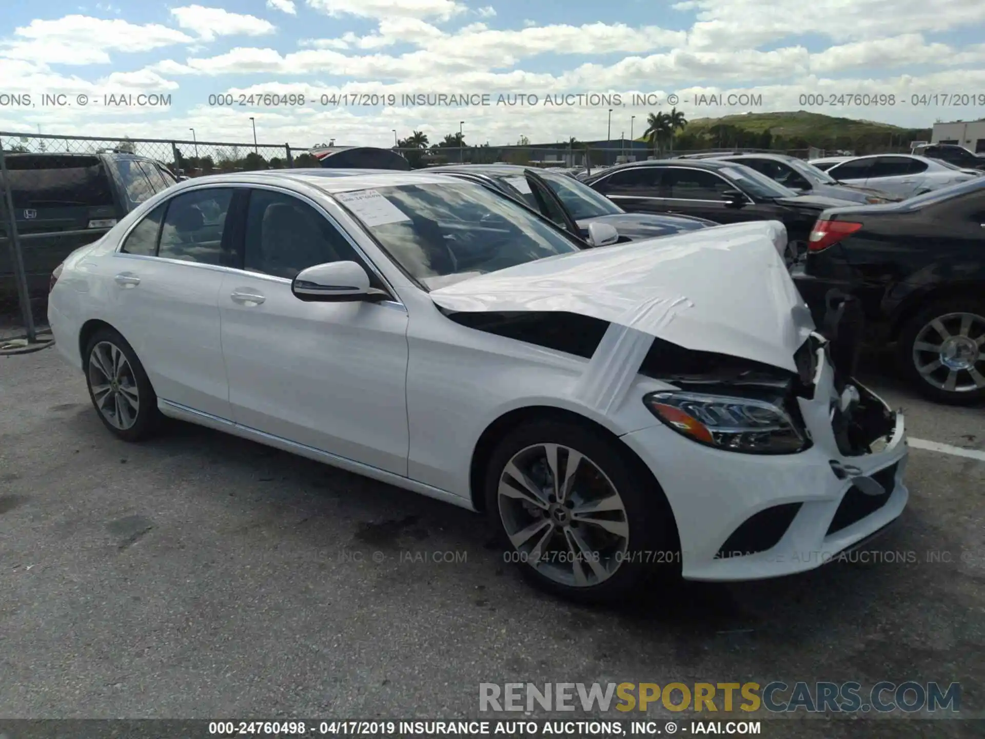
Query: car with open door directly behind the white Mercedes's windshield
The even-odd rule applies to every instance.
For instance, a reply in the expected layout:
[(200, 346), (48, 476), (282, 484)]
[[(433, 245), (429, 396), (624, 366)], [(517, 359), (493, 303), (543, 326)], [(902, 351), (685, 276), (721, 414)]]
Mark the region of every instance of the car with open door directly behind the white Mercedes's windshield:
[(427, 171), (471, 179), (519, 200), (560, 228), (589, 240), (589, 226), (604, 223), (619, 234), (619, 242), (638, 241), (717, 226), (713, 221), (687, 216), (626, 213), (577, 179), (545, 169), (517, 165), (459, 165)]

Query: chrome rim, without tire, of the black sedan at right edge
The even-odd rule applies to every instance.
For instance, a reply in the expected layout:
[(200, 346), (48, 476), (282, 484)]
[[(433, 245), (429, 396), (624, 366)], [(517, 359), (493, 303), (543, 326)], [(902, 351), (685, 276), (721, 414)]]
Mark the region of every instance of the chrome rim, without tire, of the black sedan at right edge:
[(923, 379), (948, 392), (985, 388), (985, 317), (974, 313), (938, 316), (917, 333), (913, 366)]

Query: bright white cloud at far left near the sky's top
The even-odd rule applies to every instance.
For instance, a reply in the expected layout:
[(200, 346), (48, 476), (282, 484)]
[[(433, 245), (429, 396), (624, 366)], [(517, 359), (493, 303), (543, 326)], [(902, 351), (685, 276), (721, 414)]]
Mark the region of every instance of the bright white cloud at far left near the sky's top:
[(0, 56), (44, 64), (106, 64), (111, 51), (150, 51), (191, 40), (187, 34), (158, 24), (73, 15), (55, 21), (34, 20), (15, 29), (12, 39), (0, 41)]

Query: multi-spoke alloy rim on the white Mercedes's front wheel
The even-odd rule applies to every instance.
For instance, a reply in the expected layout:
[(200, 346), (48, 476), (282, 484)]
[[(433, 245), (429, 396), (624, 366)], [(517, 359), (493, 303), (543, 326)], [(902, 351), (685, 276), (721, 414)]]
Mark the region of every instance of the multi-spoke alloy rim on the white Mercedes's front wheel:
[(499, 516), (520, 562), (563, 585), (609, 579), (625, 559), (623, 499), (587, 456), (561, 444), (514, 454), (499, 476)]

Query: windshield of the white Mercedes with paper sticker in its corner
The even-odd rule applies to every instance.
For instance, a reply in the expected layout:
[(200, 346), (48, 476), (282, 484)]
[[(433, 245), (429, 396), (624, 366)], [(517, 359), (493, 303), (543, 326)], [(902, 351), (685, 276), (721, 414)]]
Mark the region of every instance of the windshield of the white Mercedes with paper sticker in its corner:
[(335, 198), (427, 290), (580, 251), (533, 213), (471, 182), (379, 187)]

